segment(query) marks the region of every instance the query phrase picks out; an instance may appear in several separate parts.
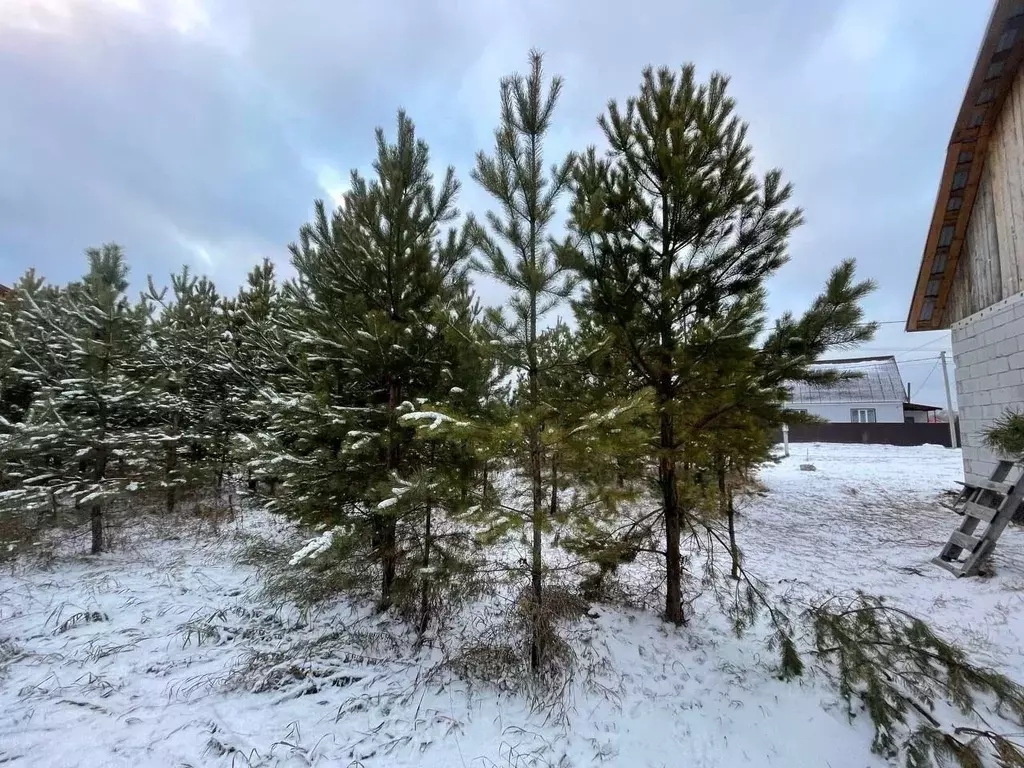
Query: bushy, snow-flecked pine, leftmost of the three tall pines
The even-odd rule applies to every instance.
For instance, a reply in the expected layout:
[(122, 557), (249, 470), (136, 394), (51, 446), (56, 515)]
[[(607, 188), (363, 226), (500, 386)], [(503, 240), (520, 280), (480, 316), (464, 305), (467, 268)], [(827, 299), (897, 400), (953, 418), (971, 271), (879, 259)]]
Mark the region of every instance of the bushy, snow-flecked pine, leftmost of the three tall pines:
[(386, 610), (417, 547), (400, 537), (413, 527), (402, 519), (409, 510), (385, 502), (423, 461), (399, 417), (418, 398), (460, 386), (442, 326), (468, 296), (470, 243), (465, 231), (442, 232), (458, 215), (459, 183), (449, 168), (435, 186), (427, 145), (404, 113), (394, 143), (378, 129), (374, 173), (352, 173), (333, 215), (317, 202), (292, 247), (298, 278), (286, 291), (287, 326), (300, 364), (275, 432), (288, 449), (280, 458), (295, 468), (285, 489), (292, 511), (340, 526), (336, 543), (356, 575), (368, 562), (379, 568)]

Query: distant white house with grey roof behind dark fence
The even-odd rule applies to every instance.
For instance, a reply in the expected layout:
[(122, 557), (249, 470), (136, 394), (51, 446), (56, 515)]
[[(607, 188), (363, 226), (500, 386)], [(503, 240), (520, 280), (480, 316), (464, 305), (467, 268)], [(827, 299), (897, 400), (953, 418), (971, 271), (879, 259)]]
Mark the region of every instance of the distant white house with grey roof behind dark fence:
[(938, 411), (933, 406), (909, 402), (899, 366), (892, 355), (821, 360), (812, 368), (850, 374), (851, 378), (827, 387), (790, 383), (791, 411), (827, 422), (861, 424), (924, 423), (932, 412)]

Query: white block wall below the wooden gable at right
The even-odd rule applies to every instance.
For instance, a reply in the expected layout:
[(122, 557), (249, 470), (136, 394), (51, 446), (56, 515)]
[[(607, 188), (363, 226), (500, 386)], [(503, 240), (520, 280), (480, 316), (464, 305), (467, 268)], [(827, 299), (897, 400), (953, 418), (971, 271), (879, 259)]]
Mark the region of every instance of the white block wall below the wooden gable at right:
[(1024, 411), (1024, 293), (952, 326), (964, 476), (986, 479), (998, 461), (983, 445), (984, 429), (1008, 409)]

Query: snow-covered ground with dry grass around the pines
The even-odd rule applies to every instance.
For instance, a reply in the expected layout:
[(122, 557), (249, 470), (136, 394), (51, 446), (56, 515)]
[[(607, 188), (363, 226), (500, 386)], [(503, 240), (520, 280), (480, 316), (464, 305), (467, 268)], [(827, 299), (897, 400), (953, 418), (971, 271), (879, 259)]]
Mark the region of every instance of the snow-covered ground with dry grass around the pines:
[[(807, 461), (817, 471), (800, 471)], [(938, 495), (961, 476), (959, 452), (940, 447), (794, 445), (741, 507), (746, 567), (778, 595), (888, 596), (1024, 680), (1024, 531), (1004, 536), (994, 578), (957, 581), (929, 564), (956, 522)], [(885, 765), (865, 718), (850, 724), (823, 681), (774, 679), (762, 638), (737, 640), (713, 610), (674, 629), (598, 606), (582, 624), (605, 664), (571, 684), (563, 713), (457, 679), (423, 684), (411, 651), (329, 654), (315, 690), (253, 692), (259, 676), (247, 673), (262, 667), (250, 651), (278, 652), (287, 677), (303, 664), (294, 648), (346, 621), (260, 596), (238, 556), (253, 536), (281, 535), (256, 513), (219, 536), (140, 525), (114, 554), (9, 567), (0, 764)]]

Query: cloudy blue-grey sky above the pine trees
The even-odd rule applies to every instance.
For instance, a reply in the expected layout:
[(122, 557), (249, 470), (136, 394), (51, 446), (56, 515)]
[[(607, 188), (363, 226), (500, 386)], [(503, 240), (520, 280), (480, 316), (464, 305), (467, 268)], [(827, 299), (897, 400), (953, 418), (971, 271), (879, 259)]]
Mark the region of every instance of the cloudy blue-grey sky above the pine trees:
[[(489, 146), (498, 80), (530, 47), (564, 76), (552, 153), (599, 141), (609, 97), (648, 63), (732, 77), (759, 165), (806, 225), (771, 286), (801, 310), (856, 257), (887, 322), (853, 354), (895, 352), (942, 404), (948, 334), (904, 334), (936, 185), (987, 0), (0, 0), (0, 282), (78, 276), (128, 252), (136, 282), (182, 263), (233, 292), (314, 198), (366, 168), (399, 105), (466, 182)], [(287, 267), (286, 267), (287, 271)], [(6, 276), (3, 276), (6, 275)], [(500, 296), (481, 287), (485, 302)], [(898, 323), (892, 323), (898, 322)], [(926, 381), (927, 379), (927, 381)], [(923, 385), (923, 386), (922, 386)]]

